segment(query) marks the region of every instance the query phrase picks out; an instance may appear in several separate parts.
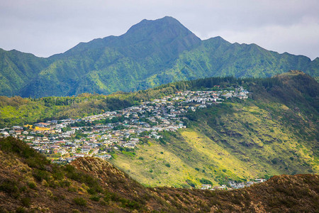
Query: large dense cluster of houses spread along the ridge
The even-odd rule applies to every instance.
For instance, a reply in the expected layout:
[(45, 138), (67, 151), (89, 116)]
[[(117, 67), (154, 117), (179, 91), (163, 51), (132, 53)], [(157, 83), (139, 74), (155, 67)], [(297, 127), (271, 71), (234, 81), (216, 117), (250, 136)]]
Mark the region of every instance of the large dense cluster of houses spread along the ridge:
[[(79, 157), (111, 158), (110, 152), (135, 148), (143, 138), (161, 138), (161, 131), (177, 131), (184, 126), (187, 111), (219, 104), (224, 99), (247, 98), (247, 90), (182, 91), (142, 102), (139, 106), (82, 119), (63, 119), (0, 129), (0, 137), (14, 136), (56, 163)], [(145, 140), (144, 140), (145, 141)]]

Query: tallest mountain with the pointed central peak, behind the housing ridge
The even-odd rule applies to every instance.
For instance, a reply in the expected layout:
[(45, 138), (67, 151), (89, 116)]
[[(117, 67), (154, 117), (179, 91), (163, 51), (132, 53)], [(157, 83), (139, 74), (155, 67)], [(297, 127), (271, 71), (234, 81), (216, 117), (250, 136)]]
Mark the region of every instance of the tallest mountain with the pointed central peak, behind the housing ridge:
[(150, 87), (145, 77), (167, 69), (179, 53), (201, 40), (177, 20), (165, 17), (143, 20), (124, 35), (80, 43), (62, 55), (30, 82), (22, 95), (65, 96), (83, 92), (109, 94)]

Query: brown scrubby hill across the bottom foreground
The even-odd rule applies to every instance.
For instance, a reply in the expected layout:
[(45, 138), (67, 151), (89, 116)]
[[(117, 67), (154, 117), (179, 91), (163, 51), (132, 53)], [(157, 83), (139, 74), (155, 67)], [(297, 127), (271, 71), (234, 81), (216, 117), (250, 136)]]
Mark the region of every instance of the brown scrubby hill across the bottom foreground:
[(1, 212), (315, 212), (318, 175), (281, 175), (233, 191), (147, 188), (99, 158), (52, 165), (0, 139)]

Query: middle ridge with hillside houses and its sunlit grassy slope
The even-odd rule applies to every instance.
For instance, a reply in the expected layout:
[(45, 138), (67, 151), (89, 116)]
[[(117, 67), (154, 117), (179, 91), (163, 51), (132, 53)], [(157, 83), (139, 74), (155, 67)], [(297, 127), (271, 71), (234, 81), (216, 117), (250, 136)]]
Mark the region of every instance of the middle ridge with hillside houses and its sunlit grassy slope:
[(56, 163), (87, 155), (109, 159), (150, 187), (318, 173), (316, 91), (318, 83), (298, 71), (177, 82), (123, 94), (121, 102), (144, 97), (133, 107), (2, 132), (29, 141)]

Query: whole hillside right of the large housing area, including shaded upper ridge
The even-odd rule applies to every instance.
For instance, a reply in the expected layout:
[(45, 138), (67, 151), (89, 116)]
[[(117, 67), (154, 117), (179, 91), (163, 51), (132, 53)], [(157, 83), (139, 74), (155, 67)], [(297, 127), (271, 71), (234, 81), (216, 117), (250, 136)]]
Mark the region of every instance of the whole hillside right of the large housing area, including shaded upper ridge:
[[(164, 140), (141, 145), (135, 155), (118, 152), (111, 162), (152, 186), (318, 173), (319, 84), (296, 71), (240, 81), (222, 84), (249, 87), (251, 99), (189, 113), (187, 129), (163, 133)], [(214, 79), (195, 80), (189, 87), (214, 84)]]

